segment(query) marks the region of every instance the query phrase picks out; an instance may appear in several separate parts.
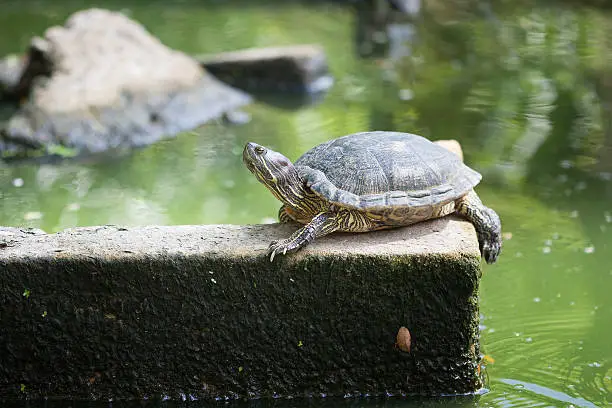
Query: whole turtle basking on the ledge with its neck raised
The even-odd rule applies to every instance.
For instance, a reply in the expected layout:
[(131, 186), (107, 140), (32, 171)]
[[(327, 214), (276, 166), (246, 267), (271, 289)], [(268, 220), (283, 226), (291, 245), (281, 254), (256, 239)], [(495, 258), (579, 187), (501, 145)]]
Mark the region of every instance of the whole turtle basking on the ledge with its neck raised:
[(495, 263), (501, 252), (501, 220), (474, 191), (482, 175), (422, 136), (354, 133), (313, 147), (295, 163), (248, 142), (242, 156), (282, 202), (279, 221), (303, 225), (270, 244), (270, 261), (335, 231), (397, 228), (452, 213), (474, 225), (487, 263)]

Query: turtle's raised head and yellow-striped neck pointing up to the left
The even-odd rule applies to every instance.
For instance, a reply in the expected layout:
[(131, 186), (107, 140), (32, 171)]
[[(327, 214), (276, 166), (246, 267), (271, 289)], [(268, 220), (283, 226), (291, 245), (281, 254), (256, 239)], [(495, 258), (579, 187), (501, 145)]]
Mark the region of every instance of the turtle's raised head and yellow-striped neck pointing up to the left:
[(249, 142), (242, 152), (242, 161), (276, 198), (294, 208), (299, 207), (304, 198), (304, 182), (288, 158)]

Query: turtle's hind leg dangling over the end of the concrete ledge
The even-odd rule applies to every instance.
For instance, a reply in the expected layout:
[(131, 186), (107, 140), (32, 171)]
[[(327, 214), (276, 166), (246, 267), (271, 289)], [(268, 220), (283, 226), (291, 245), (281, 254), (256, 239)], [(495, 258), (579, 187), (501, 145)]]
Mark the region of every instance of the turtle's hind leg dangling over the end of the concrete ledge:
[(474, 190), (458, 199), (455, 209), (474, 224), (482, 257), (489, 264), (495, 263), (502, 247), (501, 221), (497, 213), (485, 206)]

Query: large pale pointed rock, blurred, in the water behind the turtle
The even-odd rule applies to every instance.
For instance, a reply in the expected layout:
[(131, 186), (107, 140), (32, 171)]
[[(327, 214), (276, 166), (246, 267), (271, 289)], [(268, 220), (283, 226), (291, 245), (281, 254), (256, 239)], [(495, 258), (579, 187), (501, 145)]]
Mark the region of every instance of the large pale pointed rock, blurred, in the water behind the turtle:
[(148, 145), (251, 101), (140, 24), (102, 9), (32, 39), (25, 61), (16, 83), (4, 81), (4, 92), (24, 102), (0, 135), (0, 152)]

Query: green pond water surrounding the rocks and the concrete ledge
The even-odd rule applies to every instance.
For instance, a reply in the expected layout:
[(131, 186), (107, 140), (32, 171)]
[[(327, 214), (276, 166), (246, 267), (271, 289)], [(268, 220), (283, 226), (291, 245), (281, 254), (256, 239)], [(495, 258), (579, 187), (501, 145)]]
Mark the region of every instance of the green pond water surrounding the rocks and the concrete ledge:
[(247, 141), (295, 159), (368, 129), (454, 138), (483, 173), (478, 192), (500, 214), (506, 237), (482, 280), (489, 392), (476, 401), (325, 405), (608, 406), (612, 16), (571, 2), (498, 3), (428, 2), (413, 25), (411, 55), (390, 63), (359, 58), (355, 14), (329, 3), (5, 1), (0, 54), (20, 52), (79, 8), (104, 4), (193, 54), (322, 44), (336, 83), (320, 104), (255, 104), (248, 125), (209, 124), (102, 163), (0, 164), (0, 225), (53, 232), (269, 222), (278, 203), (244, 168)]

